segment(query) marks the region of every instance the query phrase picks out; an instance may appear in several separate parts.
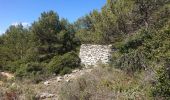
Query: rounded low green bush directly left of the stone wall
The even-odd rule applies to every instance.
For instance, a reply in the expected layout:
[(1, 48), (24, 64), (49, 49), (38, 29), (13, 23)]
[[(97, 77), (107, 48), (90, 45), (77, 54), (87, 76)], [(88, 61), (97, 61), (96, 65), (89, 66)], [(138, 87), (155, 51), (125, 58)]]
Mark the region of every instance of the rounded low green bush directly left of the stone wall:
[(66, 74), (70, 69), (80, 67), (80, 58), (75, 52), (69, 52), (62, 56), (55, 56), (48, 66), (52, 73)]

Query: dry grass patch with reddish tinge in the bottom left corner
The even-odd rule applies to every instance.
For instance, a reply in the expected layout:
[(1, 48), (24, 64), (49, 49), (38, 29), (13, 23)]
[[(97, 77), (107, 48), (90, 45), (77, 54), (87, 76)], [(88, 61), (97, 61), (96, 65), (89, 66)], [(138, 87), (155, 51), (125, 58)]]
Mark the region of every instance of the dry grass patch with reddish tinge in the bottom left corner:
[(17, 80), (5, 81), (0, 86), (0, 100), (34, 100), (34, 84)]

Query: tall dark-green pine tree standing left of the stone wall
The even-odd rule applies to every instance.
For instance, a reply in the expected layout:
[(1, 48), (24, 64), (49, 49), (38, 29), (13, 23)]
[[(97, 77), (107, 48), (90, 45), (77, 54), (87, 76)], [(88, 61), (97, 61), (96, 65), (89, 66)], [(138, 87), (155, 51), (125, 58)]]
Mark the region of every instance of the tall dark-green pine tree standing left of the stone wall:
[(74, 50), (80, 45), (73, 26), (65, 19), (59, 20), (54, 11), (44, 12), (31, 28), (37, 59), (48, 61), (55, 55)]

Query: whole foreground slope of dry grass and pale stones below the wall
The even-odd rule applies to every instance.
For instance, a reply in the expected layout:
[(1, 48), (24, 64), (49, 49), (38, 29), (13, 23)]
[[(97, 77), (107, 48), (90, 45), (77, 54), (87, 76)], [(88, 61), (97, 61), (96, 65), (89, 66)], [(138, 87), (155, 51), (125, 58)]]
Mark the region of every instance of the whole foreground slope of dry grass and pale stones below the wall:
[(91, 67), (38, 84), (0, 81), (0, 100), (148, 100), (148, 76), (150, 71), (129, 76), (110, 67)]

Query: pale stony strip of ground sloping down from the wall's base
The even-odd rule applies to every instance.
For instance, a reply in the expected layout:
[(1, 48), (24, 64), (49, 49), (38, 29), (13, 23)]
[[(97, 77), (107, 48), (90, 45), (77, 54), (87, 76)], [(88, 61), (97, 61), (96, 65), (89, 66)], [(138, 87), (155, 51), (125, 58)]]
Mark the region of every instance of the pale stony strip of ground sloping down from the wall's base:
[[(38, 84), (37, 98), (43, 100), (58, 100), (58, 89), (60, 85), (64, 82), (71, 82), (79, 78), (80, 76), (90, 73), (92, 68), (84, 68), (82, 70), (73, 70), (71, 74), (66, 74), (64, 76), (57, 76), (52, 79), (46, 80)], [(40, 92), (41, 91), (41, 92)]]

